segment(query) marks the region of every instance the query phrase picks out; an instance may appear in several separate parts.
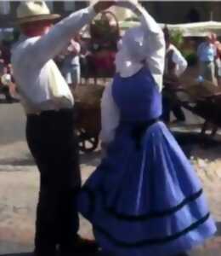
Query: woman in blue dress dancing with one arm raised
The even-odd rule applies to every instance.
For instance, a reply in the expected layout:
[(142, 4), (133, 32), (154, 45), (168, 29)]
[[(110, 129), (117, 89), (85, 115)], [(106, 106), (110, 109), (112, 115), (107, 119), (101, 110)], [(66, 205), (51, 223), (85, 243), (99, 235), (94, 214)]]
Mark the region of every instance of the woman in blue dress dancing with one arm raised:
[[(117, 4), (117, 2), (116, 2)], [(139, 3), (140, 25), (118, 45), (101, 101), (105, 157), (82, 187), (79, 209), (104, 255), (180, 256), (213, 236), (201, 182), (161, 117), (165, 42)]]

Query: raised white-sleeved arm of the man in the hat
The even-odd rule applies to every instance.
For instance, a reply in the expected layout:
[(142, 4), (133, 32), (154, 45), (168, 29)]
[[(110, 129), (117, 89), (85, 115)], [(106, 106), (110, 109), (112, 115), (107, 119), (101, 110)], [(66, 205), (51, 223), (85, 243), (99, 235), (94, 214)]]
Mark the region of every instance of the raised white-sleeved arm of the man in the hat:
[(113, 3), (113, 1), (98, 2), (60, 20), (46, 35), (30, 45), (28, 52), (31, 51), (33, 54), (36, 65), (42, 66), (58, 55), (83, 26), (90, 23), (99, 12), (111, 7)]

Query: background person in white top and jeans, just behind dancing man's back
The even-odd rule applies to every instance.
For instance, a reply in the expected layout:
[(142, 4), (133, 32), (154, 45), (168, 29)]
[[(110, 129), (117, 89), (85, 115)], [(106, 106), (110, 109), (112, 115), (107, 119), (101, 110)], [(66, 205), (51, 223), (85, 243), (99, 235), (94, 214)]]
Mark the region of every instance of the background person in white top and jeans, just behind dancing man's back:
[(61, 73), (72, 91), (81, 82), (80, 52), (81, 45), (76, 40), (71, 39), (61, 64)]

